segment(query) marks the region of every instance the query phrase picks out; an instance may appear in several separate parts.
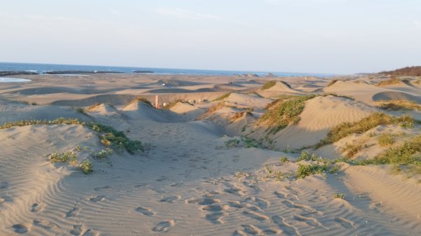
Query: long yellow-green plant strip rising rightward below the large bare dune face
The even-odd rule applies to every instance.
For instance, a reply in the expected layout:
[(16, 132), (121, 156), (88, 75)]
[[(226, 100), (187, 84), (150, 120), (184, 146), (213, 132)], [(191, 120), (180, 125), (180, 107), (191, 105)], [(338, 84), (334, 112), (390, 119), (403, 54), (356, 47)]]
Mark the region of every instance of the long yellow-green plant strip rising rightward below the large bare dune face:
[(413, 127), (414, 119), (410, 116), (392, 117), (385, 113), (373, 113), (354, 123), (342, 123), (333, 127), (325, 139), (319, 141), (315, 148), (320, 148), (328, 144), (333, 144), (349, 134), (362, 134), (378, 125), (401, 125), (402, 127)]

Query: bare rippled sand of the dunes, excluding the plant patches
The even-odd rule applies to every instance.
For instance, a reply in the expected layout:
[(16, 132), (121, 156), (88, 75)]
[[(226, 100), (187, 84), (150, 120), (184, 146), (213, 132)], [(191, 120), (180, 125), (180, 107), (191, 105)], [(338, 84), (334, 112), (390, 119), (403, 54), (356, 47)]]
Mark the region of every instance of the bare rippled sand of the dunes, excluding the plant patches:
[[(81, 125), (0, 130), (0, 235), (420, 235), (421, 188), (415, 179), (392, 175), (388, 167), (341, 164), (340, 172), (326, 178), (319, 174), (276, 181), (265, 178), (265, 165), (284, 173), (295, 172), (297, 163), (281, 163), (279, 157), (287, 155), (294, 161), (296, 154), (225, 146), (232, 137), (224, 134), (243, 135), (241, 128), (253, 123), (271, 102), (258, 95), (237, 91), (226, 99), (229, 106), (237, 107), (224, 107), (211, 114), (213, 118), (202, 120), (196, 118), (216, 103), (203, 99), (220, 94), (189, 95), (192, 97), (187, 98), (196, 103), (179, 102), (165, 111), (144, 102), (98, 104), (91, 109), (86, 107), (88, 116), (75, 111), (75, 107), (84, 106), (78, 100), (73, 101), (73, 108), (6, 101), (32, 102), (27, 99), (31, 95), (18, 90), (28, 92), (29, 88), (46, 84), (80, 91), (79, 82), (84, 81), (91, 84), (91, 91), (114, 95), (121, 88), (129, 91), (131, 86), (142, 84), (154, 88), (164, 80), (171, 84), (172, 79), (146, 76), (140, 83), (138, 77), (114, 76), (92, 80), (81, 76), (73, 84), (60, 81), (58, 76), (46, 76), (34, 78), (34, 84), (0, 85), (0, 124), (59, 116), (83, 118), (112, 125), (131, 139), (153, 145), (148, 153), (114, 152), (109, 160), (91, 158), (94, 172), (83, 174), (77, 167), (49, 162), (47, 155), (81, 145), (88, 146), (89, 151), (81, 151), (78, 160), (88, 158), (91, 151), (105, 148), (92, 130)], [(118, 86), (110, 82), (119, 79)], [(224, 85), (231, 79), (177, 78), (171, 85)], [(250, 79), (236, 81), (246, 84)], [(55, 80), (58, 81), (53, 83)], [(189, 80), (194, 83), (187, 83)], [(306, 83), (319, 86), (326, 81), (300, 78), (294, 86)], [(249, 85), (247, 89), (261, 86)], [(49, 92), (52, 93), (47, 96), (55, 95), (54, 89)], [(91, 95), (80, 92), (78, 96)], [(175, 100), (185, 95), (166, 96)], [(71, 97), (52, 96), (43, 101), (72, 101)], [(277, 144), (311, 145), (334, 125), (377, 111), (358, 102), (357, 97), (356, 100), (333, 96), (310, 99), (300, 123), (276, 134)], [(229, 120), (232, 113), (246, 107), (254, 110), (243, 113), (234, 122)], [(397, 127), (377, 127), (374, 131), (388, 130), (405, 131)], [(253, 135), (257, 137), (259, 132), (263, 130), (256, 130)], [(236, 172), (247, 173), (248, 177), (236, 178)], [(335, 193), (345, 193), (345, 200), (334, 199)]]

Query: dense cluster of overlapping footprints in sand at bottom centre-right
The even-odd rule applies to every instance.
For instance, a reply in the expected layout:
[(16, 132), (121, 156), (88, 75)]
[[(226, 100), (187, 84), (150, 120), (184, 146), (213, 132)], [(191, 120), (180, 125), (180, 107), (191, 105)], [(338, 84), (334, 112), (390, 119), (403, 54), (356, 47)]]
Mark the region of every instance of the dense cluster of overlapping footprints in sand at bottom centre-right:
[[(243, 197), (246, 195), (246, 189), (240, 186), (234, 186), (231, 183), (225, 183), (224, 193), (236, 195), (237, 197)], [(301, 236), (300, 230), (295, 227), (292, 222), (302, 222), (310, 227), (323, 228), (329, 230), (325, 225), (317, 220), (317, 215), (323, 215), (323, 212), (317, 211), (313, 207), (306, 204), (298, 204), (295, 200), (300, 200), (299, 195), (302, 194), (302, 190), (295, 188), (287, 188), (286, 191), (277, 190), (274, 191), (274, 195), (280, 198), (281, 203), (286, 207), (299, 210), (301, 213), (293, 214), (292, 218), (287, 220), (283, 216), (272, 216), (269, 217), (265, 214), (265, 209), (270, 207), (270, 202), (261, 197), (246, 197), (237, 201), (229, 201), (227, 204), (221, 204), (219, 199), (213, 197), (213, 195), (207, 194), (198, 199), (186, 200), (186, 203), (194, 203), (201, 205), (199, 209), (203, 211), (209, 211), (205, 215), (206, 220), (212, 223), (224, 223), (223, 217), (227, 216), (227, 210), (229, 208), (241, 210), (243, 216), (253, 218), (259, 223), (256, 225), (242, 224), (241, 228), (235, 230), (232, 235), (298, 235)], [(203, 207), (203, 205), (206, 205)], [(288, 221), (290, 223), (288, 223)], [(336, 217), (333, 221), (342, 225), (343, 228), (357, 228), (352, 221), (348, 221), (345, 218)], [(274, 223), (276, 228), (270, 227), (270, 224)]]

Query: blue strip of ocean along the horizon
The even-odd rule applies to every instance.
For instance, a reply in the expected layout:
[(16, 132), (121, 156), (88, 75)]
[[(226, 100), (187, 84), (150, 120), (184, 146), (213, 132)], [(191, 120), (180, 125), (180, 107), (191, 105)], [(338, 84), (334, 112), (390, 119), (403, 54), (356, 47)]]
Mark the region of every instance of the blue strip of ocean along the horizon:
[(30, 71), (42, 74), (46, 71), (101, 71), (102, 73), (109, 71), (110, 73), (126, 73), (133, 71), (153, 71), (154, 74), (187, 74), (187, 75), (215, 75), (215, 76), (232, 76), (235, 74), (257, 74), (258, 76), (267, 76), (272, 73), (275, 76), (316, 76), (331, 77), (335, 74), (314, 74), (314, 73), (295, 73), (295, 72), (276, 72), (276, 71), (219, 71), (206, 69), (168, 69), (168, 68), (147, 68), (147, 67), (112, 67), (112, 66), (87, 66), (76, 64), (32, 64), (32, 63), (14, 63), (0, 62), (0, 71)]

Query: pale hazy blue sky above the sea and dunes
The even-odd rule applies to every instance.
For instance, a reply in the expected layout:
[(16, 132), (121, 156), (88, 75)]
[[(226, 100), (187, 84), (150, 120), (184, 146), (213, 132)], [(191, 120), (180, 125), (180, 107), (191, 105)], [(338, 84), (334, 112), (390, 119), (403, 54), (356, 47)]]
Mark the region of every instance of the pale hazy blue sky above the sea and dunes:
[(421, 1), (2, 1), (0, 62), (377, 72), (421, 65)]

